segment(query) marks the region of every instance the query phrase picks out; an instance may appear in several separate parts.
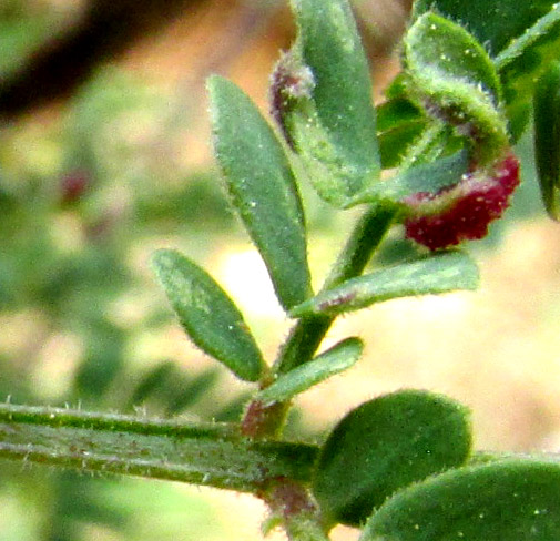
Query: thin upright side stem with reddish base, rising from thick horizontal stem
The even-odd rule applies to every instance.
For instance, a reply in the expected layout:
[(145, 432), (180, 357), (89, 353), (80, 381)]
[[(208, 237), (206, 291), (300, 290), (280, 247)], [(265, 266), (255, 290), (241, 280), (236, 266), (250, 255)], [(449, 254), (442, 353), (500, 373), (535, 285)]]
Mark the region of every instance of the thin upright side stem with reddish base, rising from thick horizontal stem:
[[(323, 290), (364, 272), (371, 255), (393, 225), (396, 214), (397, 210), (393, 206), (377, 205), (362, 216), (326, 278)], [(323, 315), (299, 319), (281, 348), (269, 382), (274, 381), (274, 377), (309, 361), (334, 320), (335, 317)], [(266, 384), (264, 382), (263, 387), (266, 387)], [(264, 408), (257, 400), (251, 402), (242, 421), (244, 433), (253, 438), (277, 436), (288, 408), (289, 401), (275, 404), (269, 408)], [(255, 419), (255, 412), (258, 412), (257, 419)]]

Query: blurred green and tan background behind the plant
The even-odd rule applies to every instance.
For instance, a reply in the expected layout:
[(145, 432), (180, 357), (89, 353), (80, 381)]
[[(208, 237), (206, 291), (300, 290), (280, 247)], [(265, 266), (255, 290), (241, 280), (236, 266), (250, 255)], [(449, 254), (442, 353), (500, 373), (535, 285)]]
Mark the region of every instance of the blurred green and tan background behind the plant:
[[(0, 400), (238, 418), (251, 388), (189, 344), (147, 261), (176, 247), (203, 264), (274, 358), (289, 321), (226, 206), (204, 80), (226, 75), (266, 111), (294, 34), (286, 3), (0, 0)], [(381, 101), (409, 1), (354, 7)], [(342, 318), (324, 347), (358, 334), (366, 356), (297, 400), (291, 437), (320, 441), (352, 407), (418, 387), (472, 408), (477, 448), (560, 448), (560, 227), (543, 215), (530, 137), (518, 152), (512, 207), (470, 246), (481, 289)], [(303, 195), (320, 284), (357, 214)], [(374, 265), (413, 249), (400, 236)], [(241, 541), (261, 539), (263, 516), (247, 496), (0, 467), (0, 541)]]

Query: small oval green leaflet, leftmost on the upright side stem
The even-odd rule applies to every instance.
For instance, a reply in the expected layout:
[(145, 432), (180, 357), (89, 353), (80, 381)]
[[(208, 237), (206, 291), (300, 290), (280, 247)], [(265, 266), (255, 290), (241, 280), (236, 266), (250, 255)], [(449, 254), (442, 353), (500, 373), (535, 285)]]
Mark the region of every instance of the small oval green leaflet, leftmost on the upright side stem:
[(256, 381), (265, 369), (263, 357), (226, 293), (205, 270), (179, 252), (160, 249), (152, 265), (193, 343), (241, 379)]

